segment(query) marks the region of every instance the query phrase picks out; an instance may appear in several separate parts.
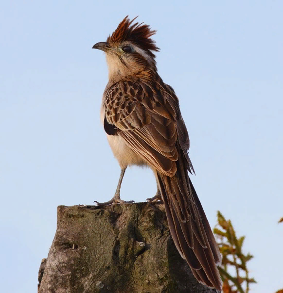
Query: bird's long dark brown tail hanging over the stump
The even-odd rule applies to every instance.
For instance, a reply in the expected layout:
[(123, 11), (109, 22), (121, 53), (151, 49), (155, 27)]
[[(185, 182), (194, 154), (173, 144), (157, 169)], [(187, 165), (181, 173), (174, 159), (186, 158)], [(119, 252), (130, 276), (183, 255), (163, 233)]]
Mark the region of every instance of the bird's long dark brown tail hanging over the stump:
[(188, 176), (186, 159), (179, 151), (177, 173), (173, 177), (157, 171), (157, 179), (174, 243), (195, 278), (221, 291), (221, 278), (216, 267), (221, 254), (207, 217)]

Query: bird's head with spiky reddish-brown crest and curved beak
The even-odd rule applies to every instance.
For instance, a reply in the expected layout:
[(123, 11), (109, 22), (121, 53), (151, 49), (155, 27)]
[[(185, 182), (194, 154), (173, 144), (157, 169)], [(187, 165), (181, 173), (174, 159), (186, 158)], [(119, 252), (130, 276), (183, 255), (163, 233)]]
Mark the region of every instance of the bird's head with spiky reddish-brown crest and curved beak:
[(157, 70), (153, 51), (159, 51), (159, 48), (150, 38), (156, 31), (142, 23), (132, 24), (136, 18), (130, 21), (126, 16), (106, 42), (96, 43), (92, 47), (106, 53), (109, 78)]

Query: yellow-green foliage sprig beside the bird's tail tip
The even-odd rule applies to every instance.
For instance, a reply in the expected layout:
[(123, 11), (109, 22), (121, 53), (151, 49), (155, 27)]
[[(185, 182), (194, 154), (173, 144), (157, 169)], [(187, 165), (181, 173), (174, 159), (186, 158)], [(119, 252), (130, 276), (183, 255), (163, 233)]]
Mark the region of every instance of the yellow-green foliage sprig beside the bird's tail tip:
[[(217, 212), (217, 225), (213, 229), (222, 254), (222, 265), (218, 267), (222, 281), (223, 293), (248, 293), (250, 283), (256, 283), (249, 277), (247, 262), (253, 258), (242, 251), (245, 236), (237, 237), (230, 220)], [(234, 272), (234, 277), (229, 272)]]

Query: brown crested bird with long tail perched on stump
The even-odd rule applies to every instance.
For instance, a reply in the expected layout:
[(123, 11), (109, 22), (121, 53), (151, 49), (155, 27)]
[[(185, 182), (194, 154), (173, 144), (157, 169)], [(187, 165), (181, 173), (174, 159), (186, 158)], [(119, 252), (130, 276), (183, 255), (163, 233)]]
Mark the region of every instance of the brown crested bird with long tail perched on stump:
[(148, 201), (163, 202), (172, 239), (195, 278), (221, 291), (221, 254), (188, 174), (195, 171), (179, 100), (158, 74), (156, 31), (136, 18), (124, 17), (106, 42), (92, 47), (106, 54), (108, 83), (100, 117), (121, 167), (113, 198), (96, 203), (124, 203), (120, 189), (127, 166), (151, 168), (158, 188)]

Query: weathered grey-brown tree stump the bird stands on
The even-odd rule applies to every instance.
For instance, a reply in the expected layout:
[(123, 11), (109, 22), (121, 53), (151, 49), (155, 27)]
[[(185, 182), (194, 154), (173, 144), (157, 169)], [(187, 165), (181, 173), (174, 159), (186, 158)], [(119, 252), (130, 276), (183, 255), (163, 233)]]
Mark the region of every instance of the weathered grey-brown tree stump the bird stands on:
[(39, 293), (212, 293), (171, 239), (162, 205), (59, 206)]

